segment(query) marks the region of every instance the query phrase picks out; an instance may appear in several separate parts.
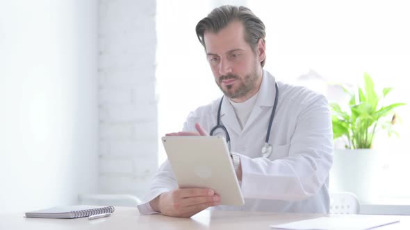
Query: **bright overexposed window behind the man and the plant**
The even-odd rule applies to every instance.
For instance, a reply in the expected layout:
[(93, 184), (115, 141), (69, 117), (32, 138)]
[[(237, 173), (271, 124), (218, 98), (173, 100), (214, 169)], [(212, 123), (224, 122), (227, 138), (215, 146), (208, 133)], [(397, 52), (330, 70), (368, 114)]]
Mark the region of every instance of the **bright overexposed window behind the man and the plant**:
[[(235, 1), (230, 1), (234, 3)], [(240, 1), (243, 3), (243, 1)], [(181, 130), (186, 116), (199, 105), (221, 96), (213, 81), (204, 50), (195, 35), (197, 21), (215, 6), (215, 1), (158, 0), (157, 93), (159, 134)], [(376, 137), (375, 148), (409, 162), (410, 142), (410, 14), (408, 1), (247, 1), (247, 6), (266, 26), (265, 69), (279, 80), (302, 84), (331, 99), (326, 82), (356, 85), (366, 71), (379, 91), (393, 87), (386, 103), (404, 102), (397, 109), (402, 124), (400, 139)], [(319, 76), (301, 81), (300, 76)], [(161, 143), (160, 143), (161, 145)], [(160, 163), (165, 161), (160, 146)], [(388, 155), (387, 155), (388, 154)], [(402, 177), (402, 168), (384, 175)], [(410, 186), (387, 184), (381, 195), (409, 197)], [(392, 191), (395, 191), (392, 193)]]

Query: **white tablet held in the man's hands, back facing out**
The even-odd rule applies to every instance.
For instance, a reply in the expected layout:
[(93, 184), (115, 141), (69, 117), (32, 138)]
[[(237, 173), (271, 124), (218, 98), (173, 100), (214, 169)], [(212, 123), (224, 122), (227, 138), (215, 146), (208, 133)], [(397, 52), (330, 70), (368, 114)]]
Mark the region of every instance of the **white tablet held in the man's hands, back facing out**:
[(223, 205), (243, 205), (225, 139), (221, 136), (163, 136), (179, 188), (211, 188)]

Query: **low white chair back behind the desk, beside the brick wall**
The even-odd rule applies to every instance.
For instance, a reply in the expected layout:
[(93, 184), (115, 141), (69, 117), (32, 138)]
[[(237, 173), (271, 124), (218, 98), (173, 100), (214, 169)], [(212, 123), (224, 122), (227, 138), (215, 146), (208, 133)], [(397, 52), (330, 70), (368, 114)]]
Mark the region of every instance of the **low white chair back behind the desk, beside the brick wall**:
[(133, 206), (140, 204), (140, 199), (129, 194), (80, 194), (79, 204), (101, 206)]

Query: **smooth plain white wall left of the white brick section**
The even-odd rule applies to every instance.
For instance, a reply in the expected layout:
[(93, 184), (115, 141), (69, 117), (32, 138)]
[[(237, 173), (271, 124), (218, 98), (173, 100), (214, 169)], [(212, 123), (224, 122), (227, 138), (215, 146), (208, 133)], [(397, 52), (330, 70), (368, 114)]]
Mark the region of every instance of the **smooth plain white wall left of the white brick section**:
[(97, 1), (0, 1), (0, 212), (97, 191)]

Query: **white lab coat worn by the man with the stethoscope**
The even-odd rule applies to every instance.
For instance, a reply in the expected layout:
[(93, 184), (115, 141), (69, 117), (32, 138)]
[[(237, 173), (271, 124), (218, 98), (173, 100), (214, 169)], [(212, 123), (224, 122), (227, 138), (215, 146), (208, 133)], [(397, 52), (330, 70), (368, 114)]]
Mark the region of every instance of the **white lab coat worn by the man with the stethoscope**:
[[(231, 137), (231, 152), (240, 154), (244, 206), (216, 206), (217, 210), (329, 213), (329, 170), (333, 160), (331, 116), (325, 96), (305, 87), (277, 82), (279, 98), (270, 132), (272, 154), (261, 157), (275, 87), (263, 72), (256, 105), (240, 129), (229, 99), (224, 97), (221, 122)], [(220, 99), (191, 112), (183, 131), (196, 131), (199, 123), (208, 132), (217, 123)], [(154, 213), (149, 201), (177, 188), (169, 161), (158, 170), (140, 213)]]

